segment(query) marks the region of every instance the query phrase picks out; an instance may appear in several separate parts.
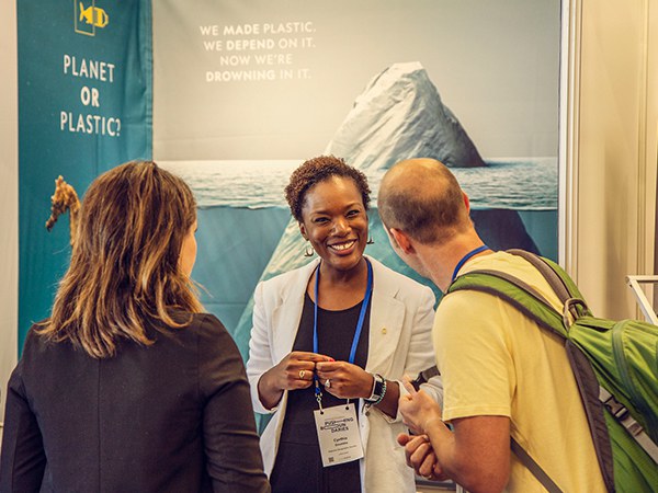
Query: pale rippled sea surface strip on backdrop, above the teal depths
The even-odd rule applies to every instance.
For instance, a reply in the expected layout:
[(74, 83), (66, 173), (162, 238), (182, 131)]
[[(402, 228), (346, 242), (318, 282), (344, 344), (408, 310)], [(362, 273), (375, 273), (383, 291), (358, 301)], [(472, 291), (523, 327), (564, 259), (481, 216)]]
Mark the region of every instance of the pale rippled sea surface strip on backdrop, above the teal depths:
[[(304, 160), (158, 161), (194, 191), (200, 207), (286, 207), (283, 190)], [(487, 159), (487, 168), (453, 168), (474, 209), (557, 209), (557, 158)], [(368, 174), (373, 199), (385, 170)]]

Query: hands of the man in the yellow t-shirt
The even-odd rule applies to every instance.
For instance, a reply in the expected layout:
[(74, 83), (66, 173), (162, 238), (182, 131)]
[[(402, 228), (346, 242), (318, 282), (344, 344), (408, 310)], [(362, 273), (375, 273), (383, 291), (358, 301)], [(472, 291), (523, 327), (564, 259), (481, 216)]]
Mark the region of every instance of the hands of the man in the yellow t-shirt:
[(441, 422), (441, 406), (424, 391), (417, 391), (408, 378), (404, 383), (409, 393), (400, 397), (398, 406), (404, 423), (415, 433), (400, 433), (397, 437), (398, 444), (405, 447), (407, 465), (424, 479), (445, 480), (447, 475), (427, 434), (433, 422)]

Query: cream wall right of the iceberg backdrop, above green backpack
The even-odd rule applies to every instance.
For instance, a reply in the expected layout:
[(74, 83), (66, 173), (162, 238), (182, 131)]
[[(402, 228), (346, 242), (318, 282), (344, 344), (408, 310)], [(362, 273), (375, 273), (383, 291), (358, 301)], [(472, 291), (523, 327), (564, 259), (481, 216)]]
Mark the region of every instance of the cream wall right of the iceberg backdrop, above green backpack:
[(627, 274), (654, 273), (658, 0), (572, 0), (563, 261), (594, 313), (640, 317)]

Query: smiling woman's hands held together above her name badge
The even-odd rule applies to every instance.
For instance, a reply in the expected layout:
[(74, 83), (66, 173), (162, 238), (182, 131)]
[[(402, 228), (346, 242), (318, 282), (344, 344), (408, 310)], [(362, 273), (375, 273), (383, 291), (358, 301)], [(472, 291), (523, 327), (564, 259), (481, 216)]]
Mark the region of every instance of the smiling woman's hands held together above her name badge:
[(373, 388), (373, 376), (363, 368), (316, 353), (293, 351), (272, 371), (280, 390), (306, 389), (316, 376), (324, 391), (339, 399), (367, 398)]

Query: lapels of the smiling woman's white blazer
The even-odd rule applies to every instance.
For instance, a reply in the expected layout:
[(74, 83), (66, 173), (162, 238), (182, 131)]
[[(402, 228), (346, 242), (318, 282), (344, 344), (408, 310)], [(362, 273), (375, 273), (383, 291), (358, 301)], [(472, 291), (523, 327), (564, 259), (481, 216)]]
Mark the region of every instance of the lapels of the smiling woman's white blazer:
[[(397, 297), (399, 286), (395, 277), (398, 274), (376, 260), (370, 256), (367, 259), (373, 266), (374, 285), (365, 369), (386, 376), (392, 368), (393, 356), (402, 332), (406, 307)], [(279, 293), (272, 312), (272, 345), (276, 362), (292, 351), (302, 319), (306, 286), (318, 262), (319, 259), (291, 272)]]

